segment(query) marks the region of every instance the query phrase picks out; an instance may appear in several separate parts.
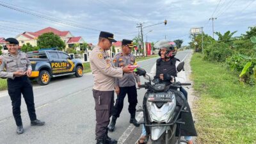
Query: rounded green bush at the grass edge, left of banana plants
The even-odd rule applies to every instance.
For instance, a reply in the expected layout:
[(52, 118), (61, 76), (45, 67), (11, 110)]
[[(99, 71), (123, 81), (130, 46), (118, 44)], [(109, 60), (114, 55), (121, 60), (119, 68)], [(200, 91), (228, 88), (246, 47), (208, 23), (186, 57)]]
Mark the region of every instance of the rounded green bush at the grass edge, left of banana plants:
[(209, 47), (206, 47), (204, 52), (205, 60), (218, 62), (223, 62), (228, 56), (232, 55), (232, 50), (229, 48), (228, 44), (223, 42), (214, 42), (213, 44), (209, 45)]

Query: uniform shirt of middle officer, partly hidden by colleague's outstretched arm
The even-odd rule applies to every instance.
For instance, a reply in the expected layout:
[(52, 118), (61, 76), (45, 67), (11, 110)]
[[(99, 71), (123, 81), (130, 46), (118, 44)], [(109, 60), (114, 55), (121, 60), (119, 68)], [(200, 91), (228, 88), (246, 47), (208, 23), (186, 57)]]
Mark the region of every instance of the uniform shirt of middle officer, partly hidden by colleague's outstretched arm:
[[(115, 67), (125, 67), (126, 65), (134, 65), (135, 63), (135, 56), (132, 54), (128, 54), (125, 56), (122, 52), (118, 52), (115, 57), (113, 58), (113, 65)], [(126, 87), (126, 86), (135, 86), (136, 82), (140, 82), (140, 76), (129, 73), (124, 74), (124, 77), (122, 79), (116, 78), (116, 86), (119, 87)]]

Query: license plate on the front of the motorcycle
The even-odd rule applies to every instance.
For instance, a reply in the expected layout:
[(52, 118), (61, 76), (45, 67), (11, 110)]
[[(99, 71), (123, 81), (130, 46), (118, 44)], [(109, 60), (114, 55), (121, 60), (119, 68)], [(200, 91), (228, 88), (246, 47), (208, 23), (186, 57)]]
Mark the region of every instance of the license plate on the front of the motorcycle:
[(172, 102), (172, 94), (152, 93), (148, 95), (148, 102)]

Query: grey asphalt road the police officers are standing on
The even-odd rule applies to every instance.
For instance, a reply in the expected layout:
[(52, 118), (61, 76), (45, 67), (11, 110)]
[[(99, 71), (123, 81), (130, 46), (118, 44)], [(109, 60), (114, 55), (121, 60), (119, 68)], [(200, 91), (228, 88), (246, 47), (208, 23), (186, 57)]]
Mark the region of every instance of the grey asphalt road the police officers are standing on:
[[(191, 51), (178, 52), (177, 58), (183, 60), (189, 52)], [(155, 62), (156, 58), (152, 58), (138, 62), (138, 65), (149, 72)], [(141, 81), (145, 81), (143, 77), (141, 77)], [(36, 83), (33, 83), (33, 86), (36, 115), (39, 120), (44, 120), (46, 124), (43, 127), (30, 126), (26, 104), (22, 99), (21, 115), (25, 132), (17, 135), (10, 97), (6, 91), (0, 92), (1, 144), (95, 143), (92, 74), (84, 74), (83, 77), (79, 78), (74, 76), (58, 77), (52, 79), (47, 86), (39, 86)], [(138, 91), (138, 106), (142, 104), (144, 93), (145, 90)], [(124, 109), (116, 122), (116, 131), (109, 132), (109, 136), (116, 140), (120, 139), (121, 136), (125, 136), (127, 127), (131, 127), (127, 103), (126, 98)], [(140, 127), (135, 129), (138, 132)], [(135, 134), (134, 132), (130, 133)], [(134, 138), (134, 142), (138, 140), (139, 136), (140, 134), (136, 134), (137, 139)]]

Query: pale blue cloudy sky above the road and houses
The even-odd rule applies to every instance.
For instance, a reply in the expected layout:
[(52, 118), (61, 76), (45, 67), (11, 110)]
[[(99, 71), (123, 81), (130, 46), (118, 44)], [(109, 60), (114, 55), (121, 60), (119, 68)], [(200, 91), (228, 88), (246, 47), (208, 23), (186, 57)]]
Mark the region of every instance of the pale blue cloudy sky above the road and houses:
[(214, 31), (237, 31), (234, 36), (256, 26), (256, 0), (0, 0), (0, 13), (0, 37), (52, 27), (92, 44), (100, 31), (114, 33), (116, 40), (132, 40), (140, 23), (157, 24), (143, 28), (145, 41), (181, 39), (183, 45), (191, 41), (191, 28), (203, 27), (212, 36), (212, 17), (217, 18)]

